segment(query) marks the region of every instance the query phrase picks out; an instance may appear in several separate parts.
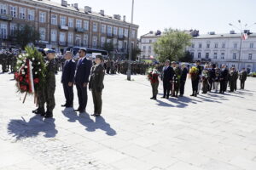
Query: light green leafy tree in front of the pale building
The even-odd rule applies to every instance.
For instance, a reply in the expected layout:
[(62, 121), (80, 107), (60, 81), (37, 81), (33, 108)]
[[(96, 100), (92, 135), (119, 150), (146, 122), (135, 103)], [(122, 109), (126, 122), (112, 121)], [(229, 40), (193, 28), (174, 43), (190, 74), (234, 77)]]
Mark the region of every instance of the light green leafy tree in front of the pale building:
[(190, 45), (192, 37), (185, 31), (166, 29), (163, 36), (154, 43), (154, 52), (160, 62), (166, 59), (179, 60), (183, 57), (185, 48)]

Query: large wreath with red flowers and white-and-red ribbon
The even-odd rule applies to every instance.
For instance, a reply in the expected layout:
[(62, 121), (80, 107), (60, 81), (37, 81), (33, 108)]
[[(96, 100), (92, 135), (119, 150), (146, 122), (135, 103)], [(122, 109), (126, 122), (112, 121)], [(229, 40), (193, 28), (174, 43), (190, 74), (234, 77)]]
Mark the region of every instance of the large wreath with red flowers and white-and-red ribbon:
[[(26, 47), (26, 54), (19, 54), (16, 64), (15, 80), (20, 94), (36, 94), (45, 81), (44, 59), (36, 48)], [(23, 99), (23, 103), (25, 102)]]

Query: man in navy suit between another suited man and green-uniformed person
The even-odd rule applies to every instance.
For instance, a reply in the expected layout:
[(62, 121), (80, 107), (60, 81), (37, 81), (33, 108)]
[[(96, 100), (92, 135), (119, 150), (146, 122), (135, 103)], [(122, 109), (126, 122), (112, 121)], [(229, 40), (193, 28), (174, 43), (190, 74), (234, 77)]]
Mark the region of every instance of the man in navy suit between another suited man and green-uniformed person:
[(90, 59), (86, 59), (86, 49), (79, 49), (79, 61), (77, 64), (77, 71), (75, 75), (75, 83), (78, 90), (79, 97), (79, 108), (75, 111), (79, 111), (80, 113), (85, 112), (85, 108), (87, 105), (87, 85), (90, 77), (90, 69), (92, 66), (92, 62)]

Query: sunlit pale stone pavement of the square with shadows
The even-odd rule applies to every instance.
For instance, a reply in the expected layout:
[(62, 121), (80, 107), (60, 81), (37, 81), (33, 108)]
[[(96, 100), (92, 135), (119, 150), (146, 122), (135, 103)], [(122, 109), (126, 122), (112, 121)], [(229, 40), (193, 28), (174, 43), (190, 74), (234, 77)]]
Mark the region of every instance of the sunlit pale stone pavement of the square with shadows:
[[(245, 90), (149, 99), (145, 76), (107, 75), (102, 116), (63, 109), (56, 76), (53, 119), (32, 114), (33, 96), (17, 94), (12, 74), (0, 74), (0, 170), (255, 170), (256, 79)], [(74, 88), (74, 106), (78, 98)]]

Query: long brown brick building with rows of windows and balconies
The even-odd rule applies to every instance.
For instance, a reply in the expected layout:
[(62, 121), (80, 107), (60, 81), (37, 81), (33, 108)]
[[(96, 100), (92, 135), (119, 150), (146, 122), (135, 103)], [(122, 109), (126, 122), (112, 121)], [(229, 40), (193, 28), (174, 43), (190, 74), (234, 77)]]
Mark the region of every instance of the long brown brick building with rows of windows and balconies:
[[(92, 12), (79, 4), (67, 4), (60, 0), (1, 0), (0, 37), (1, 46), (13, 46), (10, 41), (16, 29), (25, 25), (40, 32), (36, 46), (63, 50), (70, 46), (103, 48), (105, 42), (112, 42), (114, 51), (127, 52), (129, 37), (131, 46), (137, 44), (138, 26), (121, 20), (119, 14), (108, 16), (101, 10)], [(131, 31), (130, 31), (131, 30)]]

